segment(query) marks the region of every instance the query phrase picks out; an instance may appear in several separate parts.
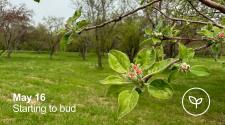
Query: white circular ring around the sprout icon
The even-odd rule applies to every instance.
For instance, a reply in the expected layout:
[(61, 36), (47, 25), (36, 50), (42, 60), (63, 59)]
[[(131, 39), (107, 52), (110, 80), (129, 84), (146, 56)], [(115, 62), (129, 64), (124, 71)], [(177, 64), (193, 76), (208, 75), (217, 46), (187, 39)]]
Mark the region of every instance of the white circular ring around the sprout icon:
[[(208, 99), (209, 99), (209, 104), (208, 104), (208, 106), (207, 106), (207, 108), (206, 108), (206, 110), (205, 110), (204, 112), (199, 113), (199, 114), (193, 114), (193, 113), (190, 113), (190, 112), (185, 108), (185, 106), (184, 106), (184, 97), (185, 97), (185, 95), (186, 95), (189, 91), (191, 91), (191, 90), (201, 90), (201, 91), (203, 91), (203, 92), (207, 95), (207, 97), (208, 97)], [(202, 89), (202, 88), (199, 88), (199, 87), (193, 87), (193, 88), (190, 88), (190, 89), (188, 89), (188, 90), (184, 93), (184, 95), (183, 95), (183, 97), (182, 97), (182, 107), (183, 107), (184, 111), (185, 111), (186, 113), (188, 113), (189, 115), (192, 115), (192, 116), (195, 116), (195, 117), (200, 116), (200, 115), (203, 115), (203, 114), (205, 114), (205, 113), (209, 110), (209, 107), (210, 107), (210, 96), (209, 96), (209, 94), (208, 94), (204, 89)]]

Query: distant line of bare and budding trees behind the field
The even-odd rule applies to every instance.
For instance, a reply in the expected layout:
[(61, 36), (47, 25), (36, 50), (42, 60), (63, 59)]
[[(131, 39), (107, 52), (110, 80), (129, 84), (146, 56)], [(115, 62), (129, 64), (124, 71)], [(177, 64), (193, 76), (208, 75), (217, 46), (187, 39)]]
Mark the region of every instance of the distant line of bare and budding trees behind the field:
[[(74, 1), (75, 8), (82, 6), (82, 18), (86, 19), (90, 25), (101, 24), (109, 19), (116, 18), (121, 14), (129, 12), (139, 5), (135, 0), (110, 0), (95, 1), (77, 0)], [(126, 5), (126, 6), (125, 6)], [(179, 6), (178, 6), (179, 5)], [(222, 14), (215, 13), (214, 10), (199, 5), (201, 12), (209, 18), (220, 21)], [(101, 57), (112, 49), (118, 49), (125, 52), (130, 60), (133, 60), (137, 52), (142, 48), (140, 43), (147, 38), (145, 29), (157, 29), (161, 23), (164, 27), (173, 26), (179, 30), (177, 36), (182, 38), (201, 38), (198, 34), (199, 29), (203, 26), (188, 21), (177, 21), (173, 18), (165, 18), (163, 15), (171, 15), (174, 17), (182, 17), (188, 20), (203, 20), (199, 13), (193, 9), (187, 1), (166, 1), (155, 5), (160, 10), (154, 8), (146, 8), (140, 13), (106, 25), (99, 29), (94, 29), (81, 34), (73, 34), (73, 40), (66, 46), (66, 51), (80, 52), (83, 59), (86, 58), (87, 52), (96, 52), (98, 56), (98, 64), (101, 66)], [(204, 10), (204, 11), (203, 11)], [(26, 6), (13, 6), (7, 0), (0, 3), (0, 49), (2, 54), (10, 57), (13, 50), (30, 50), (30, 51), (48, 51), (50, 57), (56, 51), (60, 51), (60, 39), (62, 34), (60, 30), (65, 28), (65, 20), (58, 17), (47, 17), (43, 24), (37, 26), (32, 25), (32, 11)], [(170, 17), (170, 16), (169, 16)], [(176, 18), (175, 18), (176, 19)], [(195, 47), (202, 44), (202, 41), (179, 41), (183, 44)], [(166, 57), (174, 57), (177, 55), (177, 44), (173, 42), (163, 43)], [(224, 47), (223, 47), (224, 48)], [(221, 53), (225, 53), (221, 51)], [(197, 54), (211, 55), (210, 51), (201, 51)]]

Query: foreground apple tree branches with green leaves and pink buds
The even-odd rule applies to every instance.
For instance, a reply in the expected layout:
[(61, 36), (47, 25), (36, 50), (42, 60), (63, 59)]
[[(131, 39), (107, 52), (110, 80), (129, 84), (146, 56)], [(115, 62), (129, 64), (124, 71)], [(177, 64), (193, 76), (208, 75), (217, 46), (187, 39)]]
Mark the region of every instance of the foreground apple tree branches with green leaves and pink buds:
[[(135, 12), (154, 5), (159, 2), (156, 0), (153, 2), (147, 2), (145, 5), (130, 11), (118, 18), (103, 22), (102, 24), (86, 27), (78, 30), (78, 33), (83, 31), (97, 29), (104, 27), (106, 24), (120, 21)], [(162, 16), (172, 20), (172, 24), (165, 26), (163, 21), (157, 23), (155, 28), (146, 28), (146, 40), (142, 42), (144, 48), (139, 51), (131, 63), (128, 56), (121, 51), (111, 50), (109, 53), (109, 65), (118, 73), (118, 75), (110, 75), (101, 81), (102, 84), (116, 85), (118, 90), (124, 90), (120, 92), (118, 97), (118, 118), (122, 118), (127, 115), (136, 106), (139, 94), (145, 90), (155, 98), (169, 99), (173, 95), (173, 89), (168, 84), (172, 81), (172, 78), (176, 75), (182, 74), (193, 74), (195, 76), (203, 77), (209, 75), (208, 70), (202, 65), (190, 65), (195, 52), (209, 47), (212, 50), (218, 50), (220, 44), (225, 41), (224, 37), (224, 26), (219, 22), (209, 20), (206, 21), (195, 21), (188, 19), (180, 19), (170, 17), (162, 12), (162, 10), (155, 8)], [(204, 27), (198, 30), (198, 34), (202, 35), (201, 38), (184, 38), (179, 37), (179, 30), (176, 29), (176, 22), (185, 22), (191, 24), (201, 24)], [(186, 24), (189, 25), (189, 24)], [(188, 48), (181, 43), (181, 41), (202, 41), (205, 45), (197, 47), (195, 49)], [(178, 48), (178, 54), (175, 58), (165, 58), (164, 44), (166, 42), (176, 43)], [(168, 71), (168, 77), (157, 78), (157, 75)], [(152, 79), (154, 78), (154, 79)], [(124, 87), (126, 86), (126, 87)], [(123, 89), (121, 89), (123, 88)], [(113, 89), (115, 90), (115, 89)]]

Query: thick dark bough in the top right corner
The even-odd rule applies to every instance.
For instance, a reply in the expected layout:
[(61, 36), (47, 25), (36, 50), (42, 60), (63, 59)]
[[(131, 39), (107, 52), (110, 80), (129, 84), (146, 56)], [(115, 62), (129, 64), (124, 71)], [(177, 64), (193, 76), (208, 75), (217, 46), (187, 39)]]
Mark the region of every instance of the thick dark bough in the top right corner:
[(221, 13), (225, 14), (225, 6), (221, 5), (217, 2), (214, 2), (212, 0), (199, 0), (201, 3), (205, 4), (206, 6), (210, 7), (210, 8), (214, 8), (219, 10)]

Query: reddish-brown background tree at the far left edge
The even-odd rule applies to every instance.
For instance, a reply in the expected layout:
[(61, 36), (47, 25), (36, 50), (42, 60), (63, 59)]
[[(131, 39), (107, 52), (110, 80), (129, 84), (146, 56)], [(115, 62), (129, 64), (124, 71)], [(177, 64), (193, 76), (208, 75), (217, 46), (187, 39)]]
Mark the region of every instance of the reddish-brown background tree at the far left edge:
[(10, 6), (6, 3), (1, 9), (0, 30), (3, 32), (4, 40), (2, 41), (2, 52), (7, 52), (10, 57), (12, 52), (20, 44), (21, 37), (26, 33), (29, 27), (31, 11), (24, 5)]

